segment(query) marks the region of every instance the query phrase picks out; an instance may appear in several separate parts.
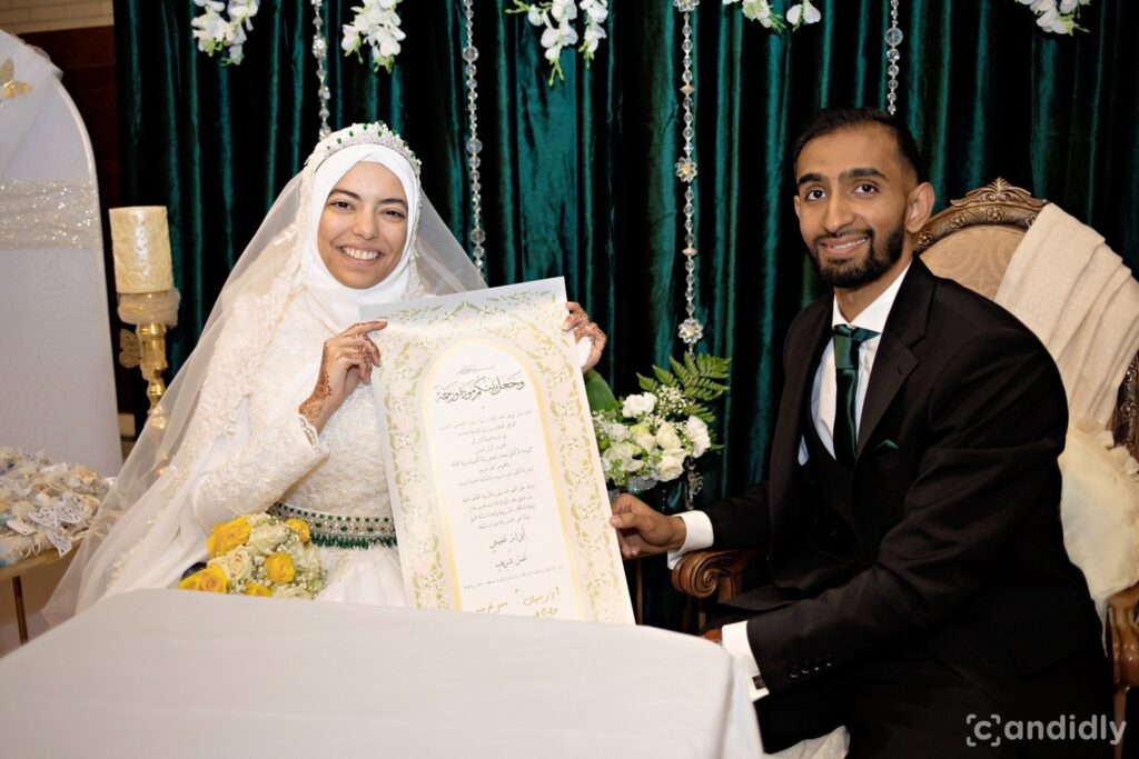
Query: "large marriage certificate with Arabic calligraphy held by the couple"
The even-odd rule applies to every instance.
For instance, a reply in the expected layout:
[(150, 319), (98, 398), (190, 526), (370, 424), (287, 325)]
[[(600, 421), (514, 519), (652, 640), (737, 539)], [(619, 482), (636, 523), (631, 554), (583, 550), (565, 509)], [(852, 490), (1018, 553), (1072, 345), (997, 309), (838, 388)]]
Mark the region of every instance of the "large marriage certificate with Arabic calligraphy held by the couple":
[(632, 622), (558, 279), (367, 308), (408, 601)]

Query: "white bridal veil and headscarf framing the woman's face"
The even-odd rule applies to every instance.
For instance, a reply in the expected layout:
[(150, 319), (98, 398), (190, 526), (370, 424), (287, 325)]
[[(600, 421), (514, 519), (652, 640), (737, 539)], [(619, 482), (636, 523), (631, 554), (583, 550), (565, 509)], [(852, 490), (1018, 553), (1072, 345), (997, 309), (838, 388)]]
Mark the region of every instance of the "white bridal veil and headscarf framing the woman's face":
[[(328, 274), (312, 232), (331, 185), (359, 160), (391, 168), (403, 184), (409, 211), (400, 263), (367, 290), (346, 288)], [(335, 170), (320, 172), (318, 180), (318, 168), (333, 163)], [(384, 124), (354, 124), (318, 143), (230, 273), (197, 346), (162, 401), (164, 426), (151, 421), (142, 429), (44, 609), (48, 621), (62, 621), (108, 594), (165, 585), (171, 570), (189, 567), (200, 553), (205, 534), (186, 508), (188, 492), (244, 444), (248, 430), (239, 418), (265, 347), (294, 297), (306, 291), (331, 327), (359, 321), (361, 303), (483, 287), (423, 195), (419, 162), (399, 135)]]

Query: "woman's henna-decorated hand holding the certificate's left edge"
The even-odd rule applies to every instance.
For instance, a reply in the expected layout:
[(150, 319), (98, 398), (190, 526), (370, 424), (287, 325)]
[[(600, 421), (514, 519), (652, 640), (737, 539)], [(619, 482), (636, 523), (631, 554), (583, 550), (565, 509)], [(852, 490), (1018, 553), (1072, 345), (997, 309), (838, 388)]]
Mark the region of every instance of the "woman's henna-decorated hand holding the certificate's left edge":
[(368, 332), (385, 327), (387, 322), (383, 320), (360, 322), (325, 340), (317, 387), (298, 409), (318, 432), (360, 382), (371, 382), (371, 368), (379, 365), (379, 348)]

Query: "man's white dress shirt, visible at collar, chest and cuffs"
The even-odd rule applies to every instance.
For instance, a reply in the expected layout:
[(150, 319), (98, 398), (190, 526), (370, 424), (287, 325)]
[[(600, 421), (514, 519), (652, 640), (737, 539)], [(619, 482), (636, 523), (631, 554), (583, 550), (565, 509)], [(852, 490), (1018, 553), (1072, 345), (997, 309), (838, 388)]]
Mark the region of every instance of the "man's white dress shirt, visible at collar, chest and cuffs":
[[(875, 356), (878, 354), (878, 345), (882, 343), (882, 332), (886, 328), (886, 319), (890, 316), (890, 310), (894, 307), (894, 299), (898, 297), (898, 290), (902, 287), (902, 280), (906, 279), (906, 274), (909, 273), (910, 267), (907, 266), (902, 270), (888, 288), (883, 291), (874, 303), (867, 306), (862, 313), (854, 317), (853, 321), (847, 322), (842, 313), (838, 311), (838, 300), (835, 299), (831, 305), (831, 316), (830, 323), (835, 324), (846, 324), (850, 323), (851, 327), (861, 327), (862, 329), (868, 329), (877, 332), (878, 335), (870, 338), (869, 340), (862, 343), (859, 347), (859, 370), (858, 370), (858, 393), (854, 397), (854, 418), (862, 418), (862, 404), (866, 401), (866, 388), (870, 385), (870, 370), (874, 368)], [(814, 382), (811, 387), (811, 418), (814, 420), (814, 429), (819, 432), (819, 438), (822, 440), (822, 445), (827, 447), (830, 455), (835, 453), (835, 396), (837, 394), (837, 382), (835, 380), (835, 341), (830, 340), (827, 343), (827, 347), (822, 350), (822, 358), (819, 361), (819, 368), (814, 372)], [(855, 429), (855, 435), (858, 430)], [(798, 463), (805, 464), (809, 454), (806, 451), (806, 438), (801, 437), (798, 444)], [(698, 551), (700, 548), (706, 548), (713, 543), (712, 534), (712, 521), (708, 519), (707, 514), (703, 511), (688, 511), (680, 514), (680, 518), (685, 520), (685, 526), (688, 530), (685, 537), (685, 544), (680, 546), (677, 553), (669, 554), (669, 567), (673, 567), (680, 556), (689, 551)], [(736, 659), (740, 661), (744, 666), (744, 670), (747, 673), (748, 678), (755, 677), (760, 674), (760, 666), (755, 661), (755, 654), (752, 653), (752, 646), (747, 641), (747, 622), (732, 622), (731, 625), (723, 626), (723, 647), (728, 650)], [(768, 690), (756, 688), (752, 686), (752, 700), (767, 695)]]

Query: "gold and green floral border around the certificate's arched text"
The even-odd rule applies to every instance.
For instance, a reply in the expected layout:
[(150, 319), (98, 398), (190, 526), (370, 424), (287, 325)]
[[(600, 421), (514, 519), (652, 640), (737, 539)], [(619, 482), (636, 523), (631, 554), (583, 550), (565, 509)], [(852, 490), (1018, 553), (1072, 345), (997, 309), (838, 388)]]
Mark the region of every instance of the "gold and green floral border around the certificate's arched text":
[[(579, 600), (585, 618), (631, 622), (625, 575), (608, 523), (609, 503), (593, 437), (581, 371), (560, 333), (565, 286), (542, 280), (431, 300), (386, 306), (388, 328), (378, 332), (383, 361), (378, 371), (377, 410), (387, 436), (388, 489), (400, 529), (400, 554), (409, 600), (418, 608), (452, 609), (456, 593), (445, 555), (439, 495), (431, 481), (431, 454), (423, 435), (423, 382), (442, 352), (465, 338), (501, 341), (524, 356), (543, 378), (539, 402), (556, 452), (554, 487), (568, 513), (559, 522), (571, 568), (577, 571)], [(410, 328), (401, 329), (400, 324)], [(562, 506), (558, 506), (562, 508)]]

